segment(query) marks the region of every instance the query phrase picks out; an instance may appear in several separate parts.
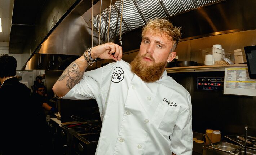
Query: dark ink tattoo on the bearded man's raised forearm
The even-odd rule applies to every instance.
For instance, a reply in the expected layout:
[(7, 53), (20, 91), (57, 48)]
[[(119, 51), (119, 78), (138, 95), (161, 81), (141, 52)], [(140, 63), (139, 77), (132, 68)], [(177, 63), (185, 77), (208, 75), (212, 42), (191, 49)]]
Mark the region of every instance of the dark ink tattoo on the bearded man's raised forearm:
[(65, 79), (66, 76), (68, 77), (66, 84), (67, 88), (71, 89), (81, 80), (83, 74), (77, 63), (71, 63), (59, 77), (58, 81)]

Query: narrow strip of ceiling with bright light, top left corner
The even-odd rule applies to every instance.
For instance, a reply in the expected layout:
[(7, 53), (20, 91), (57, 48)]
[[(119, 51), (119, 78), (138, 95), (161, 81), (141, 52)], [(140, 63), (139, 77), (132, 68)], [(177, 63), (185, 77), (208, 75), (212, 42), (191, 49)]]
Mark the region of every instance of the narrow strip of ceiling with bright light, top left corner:
[(0, 32), (0, 42), (10, 41), (13, 3), (14, 0), (0, 0), (0, 18), (2, 20), (2, 32)]

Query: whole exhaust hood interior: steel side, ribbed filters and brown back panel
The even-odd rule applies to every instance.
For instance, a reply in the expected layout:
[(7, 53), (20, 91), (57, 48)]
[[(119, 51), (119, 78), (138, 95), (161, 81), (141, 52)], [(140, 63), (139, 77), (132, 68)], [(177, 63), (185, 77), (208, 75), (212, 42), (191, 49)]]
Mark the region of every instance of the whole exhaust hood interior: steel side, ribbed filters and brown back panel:
[[(102, 2), (101, 43), (107, 40), (109, 2)], [(82, 1), (52, 31), (34, 53), (80, 56), (91, 47), (91, 8)], [(110, 41), (119, 43), (122, 0), (112, 0)], [(86, 4), (89, 4), (86, 1)], [(182, 40), (256, 29), (254, 0), (124, 0), (123, 52), (138, 49), (141, 27), (150, 18), (164, 17), (182, 27)], [(78, 9), (79, 8), (79, 9)], [(88, 8), (88, 6), (87, 6)], [(98, 43), (100, 1), (94, 4), (93, 45)]]

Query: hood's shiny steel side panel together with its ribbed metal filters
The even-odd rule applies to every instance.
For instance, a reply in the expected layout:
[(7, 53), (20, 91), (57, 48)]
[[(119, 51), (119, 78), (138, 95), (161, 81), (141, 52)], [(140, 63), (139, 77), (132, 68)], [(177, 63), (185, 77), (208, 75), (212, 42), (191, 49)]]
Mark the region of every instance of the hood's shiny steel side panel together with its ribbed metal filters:
[[(155, 17), (171, 17), (200, 6), (209, 5), (223, 0), (125, 0), (122, 21), (122, 34), (129, 33), (141, 28), (146, 21)], [(81, 3), (83, 4), (83, 3)], [(95, 4), (97, 7), (100, 1)], [(113, 39), (120, 34), (120, 17), (122, 0), (114, 1), (111, 5), (109, 39)], [(80, 6), (76, 6), (82, 8)], [(101, 42), (107, 41), (108, 16), (110, 7), (103, 7), (101, 13)], [(85, 49), (91, 46), (91, 9), (84, 10), (80, 16), (71, 12), (50, 34), (44, 43), (35, 53), (40, 54), (67, 54), (81, 55)], [(98, 10), (94, 11), (98, 12)], [(98, 43), (99, 14), (93, 17), (93, 45)], [(112, 40), (114, 41), (114, 40)]]

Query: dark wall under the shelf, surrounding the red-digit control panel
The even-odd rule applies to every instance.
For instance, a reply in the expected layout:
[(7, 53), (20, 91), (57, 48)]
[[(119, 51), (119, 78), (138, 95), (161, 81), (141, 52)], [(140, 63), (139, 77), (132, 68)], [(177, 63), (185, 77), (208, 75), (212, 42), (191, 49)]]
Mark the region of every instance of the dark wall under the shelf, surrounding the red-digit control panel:
[(197, 77), (224, 77), (224, 72), (168, 74), (185, 87), (192, 101), (193, 131), (220, 130), (225, 135), (256, 135), (256, 96), (224, 95), (223, 91), (197, 90)]

